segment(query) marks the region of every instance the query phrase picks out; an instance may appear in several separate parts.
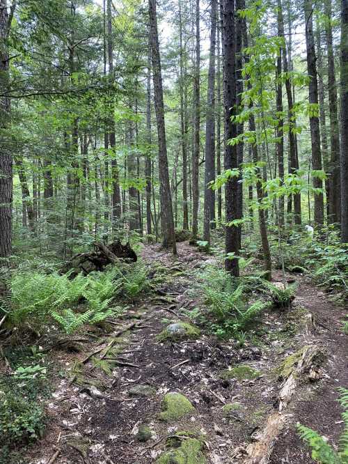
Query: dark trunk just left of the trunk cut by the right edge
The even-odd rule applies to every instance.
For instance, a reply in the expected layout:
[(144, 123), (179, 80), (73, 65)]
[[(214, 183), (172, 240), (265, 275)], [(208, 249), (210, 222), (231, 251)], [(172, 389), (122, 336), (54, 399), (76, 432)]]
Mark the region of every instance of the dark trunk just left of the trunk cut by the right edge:
[(330, 222), (340, 222), (340, 128), (338, 125), (337, 87), (335, 79), (335, 61), (333, 56), (333, 38), (331, 26), (331, 0), (324, 0), (326, 22), (326, 47), (328, 60), (330, 146), (331, 146), (331, 185), (329, 190)]

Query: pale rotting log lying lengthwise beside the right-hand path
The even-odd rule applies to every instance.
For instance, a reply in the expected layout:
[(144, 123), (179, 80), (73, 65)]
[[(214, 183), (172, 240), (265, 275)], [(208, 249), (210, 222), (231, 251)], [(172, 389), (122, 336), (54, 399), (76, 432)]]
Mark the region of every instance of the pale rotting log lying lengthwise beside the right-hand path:
[(306, 345), (294, 355), (285, 359), (280, 366), (280, 378), (283, 380), (278, 394), (278, 411), (267, 419), (267, 424), (256, 437), (256, 442), (246, 448), (248, 457), (244, 464), (267, 464), (274, 449), (274, 444), (280, 432), (287, 423), (284, 412), (290, 403), (292, 395), (303, 380), (313, 380), (313, 373), (318, 373), (319, 364), (324, 360), (324, 353), (317, 345)]

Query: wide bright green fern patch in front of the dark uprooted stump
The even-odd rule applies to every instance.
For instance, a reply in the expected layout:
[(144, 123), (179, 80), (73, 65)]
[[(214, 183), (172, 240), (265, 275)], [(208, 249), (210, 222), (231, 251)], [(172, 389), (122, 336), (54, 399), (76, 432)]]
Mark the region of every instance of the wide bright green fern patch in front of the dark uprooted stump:
[[(148, 286), (148, 270), (133, 265), (125, 270), (111, 268), (70, 279), (69, 274), (18, 273), (11, 281), (12, 309), (8, 320), (21, 327), (41, 326), (54, 320), (68, 334), (84, 324), (100, 323), (120, 314), (113, 307), (117, 296), (134, 298)], [(83, 311), (78, 307), (84, 303)]]

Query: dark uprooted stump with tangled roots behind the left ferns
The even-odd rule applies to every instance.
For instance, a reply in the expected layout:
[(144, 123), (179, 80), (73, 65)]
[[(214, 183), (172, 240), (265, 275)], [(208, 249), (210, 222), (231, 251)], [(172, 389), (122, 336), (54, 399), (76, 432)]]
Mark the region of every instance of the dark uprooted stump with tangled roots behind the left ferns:
[(112, 242), (109, 245), (104, 245), (102, 242), (93, 244), (93, 251), (79, 253), (72, 256), (70, 261), (65, 263), (61, 268), (61, 273), (65, 274), (73, 270), (72, 276), (83, 272), (85, 275), (93, 271), (102, 271), (108, 264), (117, 264), (118, 261), (126, 263), (135, 263), (137, 260), (136, 252), (131, 248), (129, 242), (122, 245), (120, 240)]

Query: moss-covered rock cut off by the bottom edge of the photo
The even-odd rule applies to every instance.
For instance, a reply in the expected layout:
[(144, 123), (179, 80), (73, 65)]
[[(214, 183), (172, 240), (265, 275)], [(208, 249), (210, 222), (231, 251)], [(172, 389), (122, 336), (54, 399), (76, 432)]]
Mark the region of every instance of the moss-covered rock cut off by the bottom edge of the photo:
[(177, 449), (171, 449), (162, 454), (157, 464), (205, 464), (202, 453), (202, 443), (196, 438), (187, 438)]

